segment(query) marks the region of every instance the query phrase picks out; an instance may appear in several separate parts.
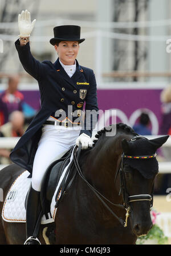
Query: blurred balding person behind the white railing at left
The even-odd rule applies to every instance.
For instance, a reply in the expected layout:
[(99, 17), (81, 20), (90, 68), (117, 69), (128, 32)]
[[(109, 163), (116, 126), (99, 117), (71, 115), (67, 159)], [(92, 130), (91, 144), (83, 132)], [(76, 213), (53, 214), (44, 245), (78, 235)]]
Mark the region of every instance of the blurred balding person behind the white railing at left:
[[(21, 111), (13, 111), (9, 116), (9, 122), (0, 127), (1, 137), (21, 137), (26, 131), (25, 117)], [(11, 148), (12, 149), (12, 148)], [(10, 164), (11, 149), (0, 149), (0, 163)]]

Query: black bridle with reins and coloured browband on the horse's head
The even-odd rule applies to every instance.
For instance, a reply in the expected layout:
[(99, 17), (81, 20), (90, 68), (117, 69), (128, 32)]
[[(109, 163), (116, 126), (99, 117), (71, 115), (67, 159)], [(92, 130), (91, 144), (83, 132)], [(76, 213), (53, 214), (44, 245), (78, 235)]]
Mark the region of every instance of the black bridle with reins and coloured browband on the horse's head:
[[(132, 140), (139, 139), (140, 137), (146, 139), (145, 137), (142, 137), (142, 136), (135, 136), (135, 137), (132, 138)], [(125, 157), (128, 157), (128, 158), (132, 157), (132, 159), (135, 158), (135, 157), (136, 157), (136, 159), (150, 159), (151, 157), (156, 157), (156, 154), (154, 154), (153, 156), (151, 156), (151, 155), (147, 155), (147, 156), (127, 156), (123, 153), (121, 155), (120, 167), (116, 172), (115, 180), (117, 178), (117, 175), (120, 174), (120, 186), (121, 187), (120, 187), (119, 195), (122, 192), (124, 203), (123, 204), (115, 204), (115, 203), (111, 202), (110, 200), (108, 200), (107, 198), (105, 198), (105, 196), (102, 195), (99, 191), (97, 191), (96, 188), (94, 188), (91, 184), (89, 184), (89, 182), (84, 177), (84, 175), (82, 173), (82, 170), (80, 169), (79, 160), (78, 160), (79, 155), (80, 155), (80, 151), (81, 151), (81, 145), (79, 145), (79, 147), (76, 146), (74, 148), (74, 154), (73, 154), (73, 160), (74, 160), (74, 163), (75, 163), (75, 167), (76, 167), (76, 170), (78, 171), (78, 174), (79, 174), (80, 178), (82, 178), (84, 180), (84, 182), (87, 184), (87, 186), (97, 196), (97, 198), (101, 201), (101, 203), (103, 203), (104, 206), (111, 212), (111, 214), (113, 216), (115, 216), (115, 218), (117, 220), (119, 220), (121, 225), (123, 225), (124, 227), (127, 227), (127, 220), (128, 220), (128, 217), (129, 217), (129, 212), (131, 210), (130, 203), (137, 202), (137, 201), (150, 201), (150, 208), (152, 208), (152, 206), (153, 206), (153, 194), (151, 194), (151, 195), (149, 195), (149, 194), (143, 194), (143, 195), (139, 194), (139, 195), (131, 195), (131, 196), (128, 195), (127, 186), (126, 186), (126, 182), (125, 182), (125, 175), (124, 175), (123, 159)], [(153, 193), (153, 189), (152, 189), (152, 193)], [(123, 219), (119, 218), (115, 214), (115, 212), (113, 212), (113, 210), (108, 206), (108, 204), (104, 202), (104, 200), (106, 202), (110, 203), (113, 206), (124, 208), (126, 210), (125, 222), (124, 222)]]

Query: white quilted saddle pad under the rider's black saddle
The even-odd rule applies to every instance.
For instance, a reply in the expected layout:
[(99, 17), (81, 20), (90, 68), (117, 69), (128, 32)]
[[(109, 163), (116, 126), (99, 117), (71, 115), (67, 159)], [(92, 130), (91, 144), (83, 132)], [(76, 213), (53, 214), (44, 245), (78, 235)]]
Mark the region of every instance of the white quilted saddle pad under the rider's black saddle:
[[(72, 161), (73, 151), (70, 157), (70, 163)], [(55, 196), (70, 163), (68, 163), (68, 165), (64, 169), (63, 174), (59, 179), (58, 186), (56, 186), (56, 190), (51, 201), (51, 209), (50, 212), (48, 212), (48, 216), (42, 216), (42, 224), (54, 222), (55, 220), (57, 210), (57, 208), (55, 208)], [(26, 222), (25, 198), (31, 183), (31, 178), (27, 178), (29, 175), (30, 172), (28, 171), (22, 172), (22, 174), (19, 175), (18, 178), (14, 181), (9, 192), (7, 193), (2, 209), (2, 218), (6, 222)], [(60, 194), (58, 195), (58, 199), (59, 198)]]

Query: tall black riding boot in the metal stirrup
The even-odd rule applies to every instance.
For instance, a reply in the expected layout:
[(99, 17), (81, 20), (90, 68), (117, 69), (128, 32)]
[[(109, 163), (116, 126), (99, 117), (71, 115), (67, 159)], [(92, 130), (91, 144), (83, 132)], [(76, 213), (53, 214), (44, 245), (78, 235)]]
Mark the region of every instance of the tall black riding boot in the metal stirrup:
[(26, 198), (26, 237), (25, 245), (40, 245), (36, 237), (32, 237), (34, 229), (41, 212), (40, 192), (34, 190), (31, 186)]

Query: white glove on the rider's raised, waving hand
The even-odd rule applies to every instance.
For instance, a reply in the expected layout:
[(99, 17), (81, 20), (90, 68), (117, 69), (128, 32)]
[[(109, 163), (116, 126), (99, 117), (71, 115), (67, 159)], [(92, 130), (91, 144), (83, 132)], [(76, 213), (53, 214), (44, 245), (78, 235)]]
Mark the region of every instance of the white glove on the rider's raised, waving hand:
[(35, 25), (36, 19), (31, 22), (30, 12), (25, 10), (18, 14), (18, 27), (21, 37), (30, 37), (32, 29)]

